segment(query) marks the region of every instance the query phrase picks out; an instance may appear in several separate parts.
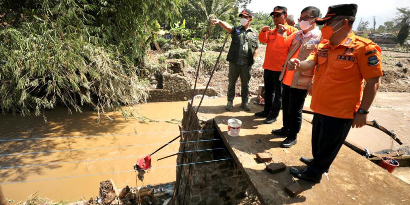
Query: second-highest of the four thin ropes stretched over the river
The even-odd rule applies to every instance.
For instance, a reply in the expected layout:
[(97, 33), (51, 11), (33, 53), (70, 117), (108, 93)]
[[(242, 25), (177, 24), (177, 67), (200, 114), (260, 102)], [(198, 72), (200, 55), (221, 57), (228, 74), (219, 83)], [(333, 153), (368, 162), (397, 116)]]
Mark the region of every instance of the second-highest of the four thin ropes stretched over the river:
[[(166, 144), (208, 142), (208, 141), (216, 141), (216, 140), (222, 140), (222, 139), (206, 139), (206, 140), (196, 140), (196, 141), (186, 141), (186, 142), (171, 142), (171, 143), (166, 143)], [(56, 153), (56, 152), (72, 152), (72, 151), (87, 151), (87, 150), (113, 149), (113, 148), (141, 147), (141, 146), (163, 145), (163, 144), (164, 144), (164, 143), (153, 143), (153, 144), (137, 144), (137, 145), (125, 145), (125, 146), (115, 146), (115, 147), (96, 147), (96, 148), (67, 149), (67, 150), (44, 151), (44, 152), (27, 152), (27, 153), (0, 154), (0, 157), (4, 157), (4, 156), (15, 156), (15, 155), (27, 155), (27, 154), (44, 154), (44, 153)]]

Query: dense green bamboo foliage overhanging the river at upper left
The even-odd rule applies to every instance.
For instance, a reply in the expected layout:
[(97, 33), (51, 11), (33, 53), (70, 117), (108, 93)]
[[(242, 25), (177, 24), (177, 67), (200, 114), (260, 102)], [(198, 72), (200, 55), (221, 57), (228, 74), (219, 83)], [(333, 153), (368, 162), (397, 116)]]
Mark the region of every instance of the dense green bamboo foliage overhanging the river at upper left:
[(81, 112), (92, 104), (100, 116), (145, 101), (147, 31), (178, 20), (181, 0), (32, 1), (22, 4), (21, 22), (0, 18), (3, 113), (41, 115), (56, 104)]

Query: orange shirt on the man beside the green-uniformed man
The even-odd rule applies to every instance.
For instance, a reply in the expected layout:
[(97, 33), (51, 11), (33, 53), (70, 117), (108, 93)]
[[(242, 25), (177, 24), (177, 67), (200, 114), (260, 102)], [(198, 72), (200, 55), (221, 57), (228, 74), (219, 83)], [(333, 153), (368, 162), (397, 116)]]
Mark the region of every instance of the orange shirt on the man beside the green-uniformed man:
[[(298, 31), (297, 28), (289, 26), (287, 23), (285, 23), (285, 26), (288, 27), (287, 35)], [(275, 41), (277, 35), (278, 29), (275, 28), (265, 32), (260, 31), (258, 36), (259, 42), (267, 44), (263, 68), (271, 71), (282, 71), (289, 51), (289, 46), (283, 41)]]

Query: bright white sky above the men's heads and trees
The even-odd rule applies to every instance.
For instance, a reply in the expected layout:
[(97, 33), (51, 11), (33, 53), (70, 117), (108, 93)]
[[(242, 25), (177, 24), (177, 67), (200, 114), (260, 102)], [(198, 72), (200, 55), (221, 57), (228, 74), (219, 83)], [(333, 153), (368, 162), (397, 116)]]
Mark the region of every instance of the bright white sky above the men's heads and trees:
[[(280, 3), (278, 3), (280, 2)], [(307, 6), (316, 6), (321, 10), (322, 16), (326, 15), (330, 5), (356, 3), (357, 14), (356, 20), (353, 24), (353, 30), (357, 28), (360, 18), (363, 21), (369, 21), (369, 27), (373, 27), (373, 16), (376, 16), (376, 28), (383, 25), (385, 21), (392, 20), (396, 17), (397, 7), (410, 7), (410, 0), (289, 0), (289, 1), (274, 1), (274, 0), (252, 0), (247, 8), (253, 12), (262, 11), (270, 13), (277, 5), (288, 8), (288, 14), (295, 16), (295, 21), (300, 17), (300, 12)], [(296, 22), (297, 23), (297, 22)]]

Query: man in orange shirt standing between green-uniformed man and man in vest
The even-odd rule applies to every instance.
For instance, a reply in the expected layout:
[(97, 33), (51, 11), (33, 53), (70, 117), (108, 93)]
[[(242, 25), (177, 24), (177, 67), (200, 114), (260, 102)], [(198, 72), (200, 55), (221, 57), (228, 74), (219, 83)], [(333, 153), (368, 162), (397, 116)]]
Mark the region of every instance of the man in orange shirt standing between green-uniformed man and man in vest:
[[(269, 29), (269, 26), (262, 27), (259, 33), (259, 41), (266, 43), (265, 61), (263, 62), (263, 81), (265, 83), (265, 106), (262, 111), (256, 112), (259, 117), (266, 117), (265, 123), (271, 124), (276, 121), (282, 102), (282, 87), (279, 81), (279, 75), (282, 67), (285, 64), (288, 55), (289, 47), (284, 46), (278, 41), (275, 41), (278, 35), (278, 25), (283, 24), (288, 27), (286, 33), (297, 31), (293, 26), (286, 23), (287, 8), (284, 6), (276, 6), (270, 15), (276, 28)], [(283, 33), (284, 31), (279, 31)]]

